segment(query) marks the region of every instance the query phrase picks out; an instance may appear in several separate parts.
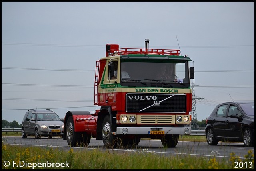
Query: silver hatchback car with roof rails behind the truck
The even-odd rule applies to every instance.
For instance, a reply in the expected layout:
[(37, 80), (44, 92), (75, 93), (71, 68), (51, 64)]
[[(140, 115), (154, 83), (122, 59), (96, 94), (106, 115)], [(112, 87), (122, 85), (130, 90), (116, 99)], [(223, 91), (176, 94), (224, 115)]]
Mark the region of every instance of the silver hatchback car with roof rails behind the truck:
[(50, 109), (30, 109), (23, 118), (21, 136), (22, 138), (27, 138), (30, 135), (34, 135), (35, 138), (41, 138), (41, 136), (48, 138), (60, 136), (62, 138), (63, 124), (60, 117)]

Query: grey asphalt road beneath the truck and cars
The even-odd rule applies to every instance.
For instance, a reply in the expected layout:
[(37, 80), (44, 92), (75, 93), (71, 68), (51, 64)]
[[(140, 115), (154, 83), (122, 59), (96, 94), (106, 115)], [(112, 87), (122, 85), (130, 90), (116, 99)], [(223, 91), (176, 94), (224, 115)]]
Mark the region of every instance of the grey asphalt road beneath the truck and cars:
[[(41, 139), (35, 139), (34, 136), (30, 136), (26, 139), (21, 137), (2, 136), (2, 142), (11, 145), (22, 146), (40, 146), (40, 147), (58, 147), (60, 149), (69, 150), (70, 147), (66, 140), (62, 138), (53, 137), (48, 139), (42, 137)], [(210, 146), (206, 142), (187, 142), (179, 141), (174, 148), (164, 148), (160, 140), (140, 140), (140, 143), (136, 147), (128, 148), (116, 148), (106, 149), (102, 140), (96, 140), (92, 138), (88, 147), (72, 147), (74, 150), (81, 149), (100, 149), (102, 151), (115, 151), (115, 152), (143, 152), (143, 153), (157, 153), (161, 155), (191, 155), (198, 157), (212, 157), (217, 158), (230, 158), (231, 153), (235, 153), (240, 159), (245, 159), (245, 155), (249, 150), (254, 153), (254, 147), (244, 147), (243, 143), (223, 143), (219, 142), (216, 146)]]

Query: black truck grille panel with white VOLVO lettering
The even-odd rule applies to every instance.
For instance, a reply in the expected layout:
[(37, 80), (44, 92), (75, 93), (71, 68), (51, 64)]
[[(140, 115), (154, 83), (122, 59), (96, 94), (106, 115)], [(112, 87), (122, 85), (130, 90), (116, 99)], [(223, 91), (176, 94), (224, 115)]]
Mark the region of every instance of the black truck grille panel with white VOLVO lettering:
[(185, 113), (186, 94), (126, 94), (126, 112)]

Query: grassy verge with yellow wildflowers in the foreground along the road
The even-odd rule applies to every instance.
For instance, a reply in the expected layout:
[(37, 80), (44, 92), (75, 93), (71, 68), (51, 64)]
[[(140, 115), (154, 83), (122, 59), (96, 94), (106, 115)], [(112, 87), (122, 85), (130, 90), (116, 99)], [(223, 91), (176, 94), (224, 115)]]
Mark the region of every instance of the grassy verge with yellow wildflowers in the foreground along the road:
[[(252, 151), (248, 151), (244, 160), (234, 153), (230, 154), (230, 159), (217, 159), (212, 156), (201, 157), (199, 160), (198, 157), (190, 155), (164, 156), (148, 151), (117, 153), (111, 149), (103, 152), (99, 149), (86, 148), (75, 150), (24, 147), (2, 142), (2, 169), (234, 169), (236, 162), (252, 163), (252, 168), (244, 165), (239, 169), (254, 169)], [(10, 166), (5, 167), (4, 161), (9, 161)], [(13, 166), (13, 163), (21, 163), (21, 167), (17, 167), (16, 164)], [(33, 165), (29, 166), (29, 163)], [(47, 167), (47, 163), (51, 163), (48, 164), (51, 167)], [(59, 165), (60, 163), (64, 163), (63, 166)]]

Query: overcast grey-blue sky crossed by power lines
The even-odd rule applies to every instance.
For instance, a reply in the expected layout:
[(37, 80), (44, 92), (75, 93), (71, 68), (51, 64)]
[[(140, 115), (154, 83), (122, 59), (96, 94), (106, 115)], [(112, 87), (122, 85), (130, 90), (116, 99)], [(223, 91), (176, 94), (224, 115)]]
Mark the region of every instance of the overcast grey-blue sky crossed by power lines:
[(94, 106), (106, 44), (181, 49), (194, 61), (196, 117), (254, 100), (254, 2), (2, 2), (2, 120)]

